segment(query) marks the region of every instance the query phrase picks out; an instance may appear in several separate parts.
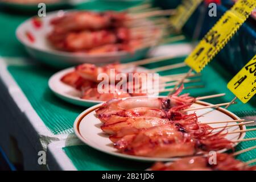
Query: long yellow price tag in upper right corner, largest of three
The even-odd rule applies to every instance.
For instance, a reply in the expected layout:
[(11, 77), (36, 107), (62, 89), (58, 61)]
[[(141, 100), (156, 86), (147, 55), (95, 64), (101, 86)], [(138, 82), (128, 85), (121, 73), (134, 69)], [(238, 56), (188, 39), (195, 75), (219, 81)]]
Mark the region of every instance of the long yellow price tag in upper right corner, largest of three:
[(196, 72), (200, 72), (213, 57), (228, 43), (237, 32), (251, 11), (256, 6), (256, 0), (239, 0), (226, 11), (213, 28), (205, 35), (185, 63)]

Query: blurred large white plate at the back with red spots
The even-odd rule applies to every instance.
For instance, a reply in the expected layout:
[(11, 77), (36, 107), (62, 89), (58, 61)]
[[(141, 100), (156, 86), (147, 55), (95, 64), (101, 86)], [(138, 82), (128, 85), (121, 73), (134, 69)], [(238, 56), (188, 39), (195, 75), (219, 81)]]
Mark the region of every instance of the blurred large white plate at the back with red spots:
[[(57, 51), (49, 45), (46, 36), (52, 30), (50, 21), (52, 18), (57, 16), (63, 16), (65, 13), (71, 11), (54, 11), (47, 13), (46, 17), (38, 19), (41, 24), (40, 27), (35, 26), (35, 17), (30, 18), (20, 24), (16, 30), (16, 37), (20, 43), (26, 47), (28, 53), (36, 60), (42, 61), (45, 64), (51, 65), (56, 68), (67, 68), (73, 65), (82, 63), (93, 63), (93, 64), (107, 64), (113, 63), (117, 60), (122, 62), (135, 61), (142, 59), (146, 56), (147, 52), (151, 47), (138, 49), (133, 53), (127, 51), (101, 53), (98, 55), (88, 55), (86, 53), (70, 53), (64, 51)], [(150, 22), (148, 22), (150, 23)]]

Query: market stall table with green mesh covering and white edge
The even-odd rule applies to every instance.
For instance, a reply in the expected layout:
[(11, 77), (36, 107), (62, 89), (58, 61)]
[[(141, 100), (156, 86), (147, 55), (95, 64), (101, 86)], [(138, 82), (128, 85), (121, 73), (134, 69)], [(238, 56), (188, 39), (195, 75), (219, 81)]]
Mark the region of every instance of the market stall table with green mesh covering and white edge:
[[(89, 3), (93, 7), (92, 3)], [(82, 9), (85, 6), (79, 6)], [(86, 6), (89, 7), (89, 6)], [(94, 5), (95, 7), (95, 5)], [(105, 9), (110, 7), (104, 5)], [(57, 98), (48, 88), (48, 79), (56, 69), (31, 60), (26, 50), (15, 38), (15, 29), (27, 19), (27, 15), (11, 14), (2, 11), (0, 22), (5, 24), (0, 34), (0, 113), (1, 147), (14, 163), (20, 163), (24, 169), (145, 169), (148, 164), (135, 163), (102, 154), (77, 141), (73, 134), (73, 122), (86, 108), (68, 104)], [(192, 47), (187, 43), (162, 46), (153, 55), (175, 55), (172, 63), (183, 61)], [(148, 68), (163, 63), (150, 64)], [(165, 72), (166, 75), (187, 72), (188, 68), (179, 68)], [(205, 88), (188, 90), (192, 96), (227, 93), (226, 97), (208, 100), (213, 104), (229, 102), (234, 97), (226, 88), (232, 75), (213, 61), (202, 72)], [(255, 120), (255, 98), (249, 104), (230, 106), (230, 111), (240, 117)], [(246, 137), (255, 137), (250, 132)], [(237, 150), (255, 145), (255, 142), (243, 142)], [(47, 151), (47, 166), (38, 163), (40, 151)], [(254, 153), (241, 155), (246, 161), (253, 159)], [(88, 158), (89, 156), (89, 158)], [(104, 160), (105, 159), (105, 160)], [(110, 161), (115, 161), (112, 166)]]

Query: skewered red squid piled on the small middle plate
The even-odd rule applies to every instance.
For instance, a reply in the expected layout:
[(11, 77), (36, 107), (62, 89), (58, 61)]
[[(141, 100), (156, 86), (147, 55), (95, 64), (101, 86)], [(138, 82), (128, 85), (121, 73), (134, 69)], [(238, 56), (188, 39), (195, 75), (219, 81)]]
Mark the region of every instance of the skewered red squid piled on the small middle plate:
[[(142, 90), (140, 86), (142, 78), (139, 78), (138, 81), (135, 79), (135, 76), (140, 77), (142, 73), (137, 73), (133, 68), (131, 73), (122, 73), (121, 67), (121, 64), (118, 63), (103, 67), (97, 67), (94, 64), (81, 64), (75, 68), (75, 71), (64, 75), (61, 81), (80, 90), (81, 98), (84, 99), (108, 101), (112, 98), (146, 96), (147, 90)], [(147, 81), (151, 81), (149, 80), (151, 78), (147, 78), (146, 73), (143, 74)], [(118, 78), (118, 76), (122, 77)], [(128, 81), (127, 78), (129, 78)], [(152, 82), (154, 83), (154, 80)]]

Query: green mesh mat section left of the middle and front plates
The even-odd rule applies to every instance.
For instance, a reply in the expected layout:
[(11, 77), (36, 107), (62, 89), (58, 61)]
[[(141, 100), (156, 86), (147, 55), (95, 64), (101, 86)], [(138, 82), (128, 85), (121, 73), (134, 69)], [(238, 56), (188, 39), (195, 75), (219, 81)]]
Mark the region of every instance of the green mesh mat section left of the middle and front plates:
[(53, 95), (48, 79), (56, 71), (36, 65), (9, 66), (8, 69), (53, 134), (73, 132), (73, 122), (85, 108), (68, 104)]

